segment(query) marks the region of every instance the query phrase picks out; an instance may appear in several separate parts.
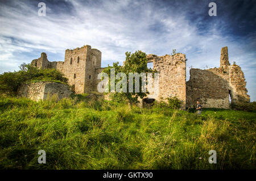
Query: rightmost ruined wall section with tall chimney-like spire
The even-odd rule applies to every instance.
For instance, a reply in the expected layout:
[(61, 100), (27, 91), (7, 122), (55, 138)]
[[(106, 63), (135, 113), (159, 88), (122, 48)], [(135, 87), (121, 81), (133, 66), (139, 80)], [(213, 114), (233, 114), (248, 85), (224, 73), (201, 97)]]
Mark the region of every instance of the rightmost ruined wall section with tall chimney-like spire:
[(191, 69), (187, 82), (186, 107), (230, 108), (229, 97), (233, 103), (250, 102), (247, 95), (244, 74), (238, 65), (230, 65), (228, 47), (221, 49), (220, 68), (200, 70)]

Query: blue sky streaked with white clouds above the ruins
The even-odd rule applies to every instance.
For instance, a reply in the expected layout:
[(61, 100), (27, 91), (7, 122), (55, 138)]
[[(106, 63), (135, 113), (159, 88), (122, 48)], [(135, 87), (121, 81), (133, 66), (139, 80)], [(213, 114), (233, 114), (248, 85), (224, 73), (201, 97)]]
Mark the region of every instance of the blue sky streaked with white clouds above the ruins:
[[(46, 16), (38, 16), (38, 3)], [(217, 16), (209, 16), (210, 2)], [(242, 67), (251, 100), (256, 100), (256, 1), (0, 1), (0, 73), (46, 52), (63, 61), (65, 49), (83, 45), (101, 50), (102, 67), (122, 62), (125, 52), (158, 56), (185, 53), (189, 67), (220, 65), (228, 46), (229, 61)]]

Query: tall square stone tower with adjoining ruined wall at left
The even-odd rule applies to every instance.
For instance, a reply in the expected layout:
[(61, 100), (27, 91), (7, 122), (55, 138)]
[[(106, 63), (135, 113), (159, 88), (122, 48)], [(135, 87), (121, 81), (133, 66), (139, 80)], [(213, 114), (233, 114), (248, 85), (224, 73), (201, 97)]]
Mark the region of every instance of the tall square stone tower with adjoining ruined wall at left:
[(47, 54), (42, 53), (41, 57), (31, 62), (39, 69), (57, 69), (68, 78), (68, 84), (75, 87), (77, 94), (96, 91), (97, 78), (96, 69), (101, 68), (101, 52), (91, 49), (89, 45), (73, 50), (65, 50), (65, 60), (49, 62)]

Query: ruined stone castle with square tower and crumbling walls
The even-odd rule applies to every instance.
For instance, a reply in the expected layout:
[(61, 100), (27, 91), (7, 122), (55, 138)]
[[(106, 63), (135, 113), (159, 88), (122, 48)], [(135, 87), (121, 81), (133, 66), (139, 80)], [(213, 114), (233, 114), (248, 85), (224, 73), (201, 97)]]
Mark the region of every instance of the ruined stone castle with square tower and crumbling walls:
[[(190, 79), (186, 82), (185, 54), (156, 56), (147, 55), (148, 62), (153, 62), (153, 69), (159, 73), (159, 94), (148, 94), (147, 99), (166, 100), (170, 96), (177, 96), (183, 100), (183, 109), (191, 107), (199, 100), (203, 107), (229, 108), (232, 102), (249, 102), (246, 82), (243, 72), (238, 65), (230, 65), (228, 47), (221, 49), (220, 67), (201, 70), (190, 69)], [(36, 68), (55, 68), (68, 78), (68, 84), (73, 86), (77, 94), (97, 91), (100, 80), (97, 76), (101, 68), (101, 52), (89, 45), (73, 50), (65, 50), (65, 60), (47, 60), (46, 53), (32, 60), (31, 65)]]

